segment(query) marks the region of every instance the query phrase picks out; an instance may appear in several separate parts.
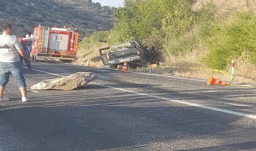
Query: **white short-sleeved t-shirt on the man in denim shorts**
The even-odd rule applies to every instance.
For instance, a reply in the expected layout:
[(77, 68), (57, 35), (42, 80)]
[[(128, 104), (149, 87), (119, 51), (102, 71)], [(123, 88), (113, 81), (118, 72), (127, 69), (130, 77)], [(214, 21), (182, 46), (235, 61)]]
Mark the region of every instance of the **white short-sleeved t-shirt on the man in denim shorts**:
[(11, 48), (0, 49), (0, 62), (17, 62), (20, 61), (20, 54), (17, 49), (23, 49), (17, 37), (11, 35), (0, 35), (0, 46), (10, 45)]

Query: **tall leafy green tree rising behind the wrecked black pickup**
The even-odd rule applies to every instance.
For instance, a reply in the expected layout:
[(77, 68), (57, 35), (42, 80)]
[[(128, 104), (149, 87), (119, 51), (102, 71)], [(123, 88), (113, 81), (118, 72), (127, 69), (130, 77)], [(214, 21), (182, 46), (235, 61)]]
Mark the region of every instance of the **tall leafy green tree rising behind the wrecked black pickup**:
[(118, 23), (111, 33), (120, 32), (120, 36), (114, 34), (111, 38), (118, 42), (131, 38), (147, 42), (160, 32), (170, 39), (188, 31), (192, 22), (192, 9), (187, 0), (125, 0), (124, 8), (115, 8), (114, 15)]

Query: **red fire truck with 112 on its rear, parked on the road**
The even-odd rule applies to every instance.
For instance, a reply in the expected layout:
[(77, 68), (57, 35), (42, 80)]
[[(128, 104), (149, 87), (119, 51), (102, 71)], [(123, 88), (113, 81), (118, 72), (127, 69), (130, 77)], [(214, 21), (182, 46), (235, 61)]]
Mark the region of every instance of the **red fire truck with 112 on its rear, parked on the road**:
[(67, 26), (59, 28), (38, 25), (34, 28), (31, 59), (34, 61), (55, 59), (61, 62), (75, 60), (78, 37), (77, 29)]

